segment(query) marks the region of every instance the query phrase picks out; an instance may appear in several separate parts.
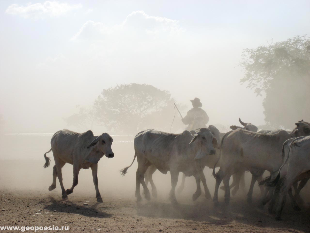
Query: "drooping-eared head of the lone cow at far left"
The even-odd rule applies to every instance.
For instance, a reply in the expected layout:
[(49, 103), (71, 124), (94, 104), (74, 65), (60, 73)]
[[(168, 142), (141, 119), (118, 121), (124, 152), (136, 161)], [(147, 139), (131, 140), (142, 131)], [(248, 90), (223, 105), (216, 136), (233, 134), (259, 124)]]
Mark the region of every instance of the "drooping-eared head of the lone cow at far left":
[(112, 151), (112, 142), (113, 138), (107, 133), (103, 133), (96, 137), (91, 144), (89, 144), (86, 148), (89, 149), (91, 147), (92, 152), (86, 160), (92, 163), (98, 163), (99, 159), (105, 154), (108, 158), (113, 158), (114, 153)]

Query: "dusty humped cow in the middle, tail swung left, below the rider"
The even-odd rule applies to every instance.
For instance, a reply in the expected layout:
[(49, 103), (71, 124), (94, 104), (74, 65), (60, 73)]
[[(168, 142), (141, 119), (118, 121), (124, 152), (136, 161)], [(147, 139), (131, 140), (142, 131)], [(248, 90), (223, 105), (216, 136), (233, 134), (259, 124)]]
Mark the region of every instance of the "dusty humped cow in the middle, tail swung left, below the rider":
[[(200, 160), (208, 154), (215, 154), (214, 146), (217, 144), (217, 139), (206, 128), (201, 128), (195, 135), (192, 135), (187, 130), (181, 134), (171, 134), (157, 130), (144, 130), (138, 133), (134, 139), (135, 157), (131, 163), (132, 165), (137, 157), (138, 169), (136, 172), (135, 192), (137, 200), (141, 200), (140, 184), (144, 188), (145, 198), (150, 199), (148, 187), (144, 182), (144, 173), (152, 164), (163, 174), (170, 171), (171, 203), (177, 203), (175, 186), (180, 171), (186, 176), (195, 177), (197, 190), (193, 194), (193, 199), (197, 199), (201, 195), (200, 175), (205, 167)], [(122, 175), (126, 174), (129, 167), (121, 170)]]

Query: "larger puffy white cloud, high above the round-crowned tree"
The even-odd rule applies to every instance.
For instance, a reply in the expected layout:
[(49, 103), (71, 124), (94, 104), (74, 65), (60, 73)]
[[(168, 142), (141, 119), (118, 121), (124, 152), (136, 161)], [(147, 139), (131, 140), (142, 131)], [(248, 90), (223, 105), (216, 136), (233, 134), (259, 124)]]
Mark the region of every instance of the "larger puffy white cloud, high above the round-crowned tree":
[(144, 11), (133, 11), (126, 19), (118, 25), (106, 27), (101, 22), (87, 21), (82, 25), (77, 34), (72, 39), (92, 39), (100, 40), (106, 38), (107, 35), (120, 35), (128, 32), (129, 34), (178, 34), (183, 29), (179, 25), (179, 21), (168, 19), (165, 17), (149, 16)]

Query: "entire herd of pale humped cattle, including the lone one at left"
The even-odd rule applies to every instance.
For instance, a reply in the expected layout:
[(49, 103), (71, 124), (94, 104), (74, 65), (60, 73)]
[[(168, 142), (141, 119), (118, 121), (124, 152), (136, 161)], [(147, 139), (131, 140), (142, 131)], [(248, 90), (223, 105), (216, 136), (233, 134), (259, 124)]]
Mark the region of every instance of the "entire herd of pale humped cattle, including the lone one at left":
[[(197, 130), (185, 130), (181, 134), (172, 134), (157, 130), (144, 130), (134, 139), (135, 156), (138, 169), (136, 171), (135, 196), (138, 201), (142, 199), (140, 185), (147, 200), (150, 192), (147, 184), (152, 186), (152, 195), (157, 196), (156, 186), (152, 175), (156, 170), (166, 174), (170, 171), (171, 190), (170, 200), (177, 204), (175, 188), (179, 172), (183, 173), (182, 184), (178, 191), (184, 188), (186, 176), (194, 176), (197, 190), (193, 200), (201, 195), (202, 182), (207, 199), (211, 199), (210, 191), (206, 185), (203, 169), (207, 166), (213, 169), (216, 179), (213, 201), (218, 205), (218, 189), (223, 181), (225, 190), (225, 203), (229, 204), (230, 189), (234, 195), (242, 184), (244, 173), (250, 171), (252, 180), (247, 201), (252, 202), (255, 182), (259, 182), (262, 192), (259, 207), (263, 208), (270, 201), (268, 211), (281, 219), (281, 212), (288, 193), (295, 210), (299, 209), (297, 200), (299, 192), (310, 178), (310, 123), (298, 121), (293, 131), (286, 130), (258, 130), (251, 123), (244, 123), (243, 127), (231, 126), (232, 131), (220, 133), (215, 126)], [(62, 198), (67, 199), (78, 184), (80, 169), (91, 168), (98, 202), (102, 202), (98, 190), (97, 163), (104, 155), (113, 158), (113, 139), (107, 133), (94, 136), (91, 130), (85, 133), (75, 133), (70, 130), (60, 130), (51, 139), (55, 166), (53, 168), (53, 182), (49, 190), (56, 187), (56, 176), (59, 179)], [(50, 152), (48, 151), (48, 152)], [(47, 152), (47, 153), (48, 153)], [(44, 168), (50, 164), (50, 159), (44, 154), (46, 160)], [(73, 184), (65, 190), (62, 183), (61, 168), (65, 163), (73, 164)], [(129, 167), (131, 167), (131, 165)], [(127, 173), (129, 167), (121, 170), (122, 175)], [(219, 171), (215, 173), (215, 168)], [(263, 179), (264, 171), (270, 176)], [(232, 185), (229, 185), (230, 176), (233, 176)], [(145, 180), (144, 180), (145, 178)], [(298, 181), (301, 182), (298, 185)], [(244, 180), (243, 180), (244, 182)], [(294, 187), (294, 195), (291, 187)]]

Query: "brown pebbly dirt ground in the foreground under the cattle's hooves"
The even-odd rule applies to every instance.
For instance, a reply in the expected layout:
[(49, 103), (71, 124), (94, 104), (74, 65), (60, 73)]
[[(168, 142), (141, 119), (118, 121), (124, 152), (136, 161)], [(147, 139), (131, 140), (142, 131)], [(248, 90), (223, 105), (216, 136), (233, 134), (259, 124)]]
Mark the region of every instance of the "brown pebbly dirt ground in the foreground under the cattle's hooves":
[(203, 198), (194, 203), (179, 199), (173, 207), (166, 200), (137, 204), (113, 196), (96, 203), (90, 194), (71, 194), (63, 201), (57, 191), (1, 190), (0, 196), (0, 226), (69, 226), (69, 232), (310, 232), (308, 208), (292, 212), (287, 206), (283, 221), (276, 222), (244, 200), (214, 207)]

